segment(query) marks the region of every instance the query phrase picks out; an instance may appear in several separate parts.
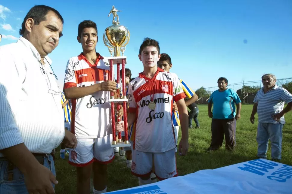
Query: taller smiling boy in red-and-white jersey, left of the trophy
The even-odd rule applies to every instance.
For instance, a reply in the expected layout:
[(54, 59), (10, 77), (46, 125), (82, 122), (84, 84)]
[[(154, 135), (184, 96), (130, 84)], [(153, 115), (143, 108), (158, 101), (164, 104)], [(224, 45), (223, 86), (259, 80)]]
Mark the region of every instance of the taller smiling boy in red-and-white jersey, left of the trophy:
[[(114, 159), (110, 92), (116, 82), (109, 78), (108, 60), (96, 52), (98, 42), (96, 23), (85, 20), (78, 26), (77, 40), (82, 53), (68, 60), (64, 79), (64, 93), (72, 101), (71, 132), (78, 144), (70, 149), (69, 163), (76, 166), (77, 193), (90, 193), (93, 170), (93, 193), (107, 192), (107, 164)], [(122, 115), (123, 108), (117, 111)], [(117, 132), (121, 132), (122, 129)]]

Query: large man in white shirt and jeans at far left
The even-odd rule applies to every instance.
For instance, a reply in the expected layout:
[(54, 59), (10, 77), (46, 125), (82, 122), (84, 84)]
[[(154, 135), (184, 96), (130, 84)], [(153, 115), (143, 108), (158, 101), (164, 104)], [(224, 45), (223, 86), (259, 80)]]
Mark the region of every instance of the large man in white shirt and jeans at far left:
[[(54, 157), (61, 141), (76, 147), (64, 130), (61, 91), (47, 57), (62, 36), (63, 18), (37, 5), (23, 20), (16, 43), (0, 47), (0, 192), (54, 193)], [(39, 104), (46, 103), (40, 113)]]

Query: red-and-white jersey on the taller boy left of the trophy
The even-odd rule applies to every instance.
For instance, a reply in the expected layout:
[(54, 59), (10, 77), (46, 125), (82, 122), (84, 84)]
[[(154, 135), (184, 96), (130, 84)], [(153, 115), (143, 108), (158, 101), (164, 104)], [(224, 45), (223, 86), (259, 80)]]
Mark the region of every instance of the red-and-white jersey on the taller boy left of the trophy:
[[(68, 60), (64, 89), (91, 86), (109, 80), (108, 60), (96, 54), (98, 58), (94, 65), (88, 62), (83, 53)], [(110, 92), (105, 91), (72, 99), (71, 132), (75, 132), (78, 138), (99, 138), (112, 134), (109, 99)]]

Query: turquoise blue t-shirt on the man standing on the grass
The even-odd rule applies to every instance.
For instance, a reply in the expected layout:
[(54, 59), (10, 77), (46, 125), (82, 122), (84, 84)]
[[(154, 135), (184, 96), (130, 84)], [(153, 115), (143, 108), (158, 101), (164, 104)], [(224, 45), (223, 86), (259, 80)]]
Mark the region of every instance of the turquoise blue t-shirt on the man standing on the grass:
[(213, 119), (232, 119), (235, 117), (235, 104), (241, 103), (239, 96), (232, 89), (223, 92), (214, 91), (209, 103), (213, 104)]

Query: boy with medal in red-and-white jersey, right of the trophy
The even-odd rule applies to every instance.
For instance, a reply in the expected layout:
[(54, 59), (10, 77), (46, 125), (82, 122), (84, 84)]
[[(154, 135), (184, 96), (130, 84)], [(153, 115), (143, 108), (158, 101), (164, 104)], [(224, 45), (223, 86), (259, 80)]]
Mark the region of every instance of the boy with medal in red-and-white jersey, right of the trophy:
[[(139, 185), (151, 183), (153, 162), (159, 180), (178, 176), (176, 137), (172, 126), (172, 102), (181, 113), (182, 140), (179, 152), (188, 151), (188, 110), (181, 83), (176, 74), (157, 67), (160, 47), (156, 40), (145, 38), (138, 55), (144, 71), (129, 84), (128, 126), (136, 121), (132, 147), (132, 174)], [(117, 129), (123, 128), (117, 124)]]

